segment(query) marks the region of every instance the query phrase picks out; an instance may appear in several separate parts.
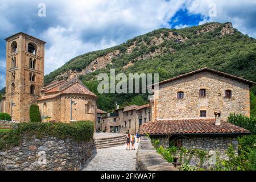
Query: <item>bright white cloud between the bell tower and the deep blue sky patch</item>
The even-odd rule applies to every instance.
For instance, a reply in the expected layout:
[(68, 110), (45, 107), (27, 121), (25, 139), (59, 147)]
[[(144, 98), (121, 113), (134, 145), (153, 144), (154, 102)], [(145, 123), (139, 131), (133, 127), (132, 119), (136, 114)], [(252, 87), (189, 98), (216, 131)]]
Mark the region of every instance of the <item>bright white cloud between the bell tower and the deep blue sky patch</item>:
[[(46, 71), (59, 68), (82, 53), (115, 46), (161, 26), (184, 1), (64, 1), (58, 7), (59, 24), (42, 33)], [(46, 6), (48, 3), (46, 3)], [(47, 14), (49, 14), (47, 10)]]

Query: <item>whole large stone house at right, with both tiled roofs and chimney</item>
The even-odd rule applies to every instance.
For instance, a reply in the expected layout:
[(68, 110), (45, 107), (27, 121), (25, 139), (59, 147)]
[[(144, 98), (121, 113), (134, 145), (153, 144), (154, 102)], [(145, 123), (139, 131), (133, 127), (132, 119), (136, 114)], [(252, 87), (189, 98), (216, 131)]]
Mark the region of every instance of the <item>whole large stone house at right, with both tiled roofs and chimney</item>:
[[(250, 116), (254, 82), (209, 68), (159, 82), (150, 106), (151, 122), (141, 134), (160, 139), (164, 146), (213, 150), (227, 158), (226, 149), (249, 131), (226, 122), (231, 113)], [(154, 85), (153, 85), (154, 88)]]

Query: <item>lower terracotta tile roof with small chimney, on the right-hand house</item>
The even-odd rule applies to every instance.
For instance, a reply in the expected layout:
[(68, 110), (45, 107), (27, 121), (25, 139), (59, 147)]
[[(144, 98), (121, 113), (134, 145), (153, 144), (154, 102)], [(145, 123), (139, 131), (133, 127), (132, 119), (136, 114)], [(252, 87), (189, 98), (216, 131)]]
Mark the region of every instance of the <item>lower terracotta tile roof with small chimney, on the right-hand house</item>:
[(159, 119), (144, 123), (139, 132), (151, 135), (163, 134), (250, 134), (249, 131), (232, 125), (228, 122), (221, 122), (221, 125), (214, 125), (214, 118), (181, 118), (181, 119)]

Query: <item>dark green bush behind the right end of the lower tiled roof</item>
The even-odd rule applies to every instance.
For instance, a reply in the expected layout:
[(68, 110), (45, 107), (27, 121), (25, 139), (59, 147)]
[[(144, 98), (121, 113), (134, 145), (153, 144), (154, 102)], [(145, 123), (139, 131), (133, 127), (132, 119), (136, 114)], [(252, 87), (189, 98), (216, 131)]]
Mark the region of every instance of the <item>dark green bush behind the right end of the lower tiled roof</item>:
[(243, 127), (249, 130), (252, 134), (256, 134), (256, 118), (245, 117), (242, 114), (230, 114), (228, 117), (228, 122)]

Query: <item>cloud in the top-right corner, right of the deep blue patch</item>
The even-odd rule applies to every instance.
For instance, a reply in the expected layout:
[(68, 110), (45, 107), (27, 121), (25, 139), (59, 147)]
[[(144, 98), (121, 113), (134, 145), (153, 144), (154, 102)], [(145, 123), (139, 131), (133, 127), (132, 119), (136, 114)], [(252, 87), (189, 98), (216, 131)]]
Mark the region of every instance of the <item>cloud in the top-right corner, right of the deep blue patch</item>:
[[(216, 16), (209, 16), (209, 5), (216, 5)], [(200, 24), (206, 22), (232, 22), (233, 27), (243, 34), (256, 38), (256, 1), (223, 1), (223, 0), (188, 0), (185, 3), (189, 13), (201, 14), (205, 18)]]

